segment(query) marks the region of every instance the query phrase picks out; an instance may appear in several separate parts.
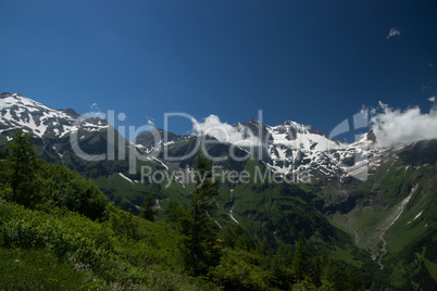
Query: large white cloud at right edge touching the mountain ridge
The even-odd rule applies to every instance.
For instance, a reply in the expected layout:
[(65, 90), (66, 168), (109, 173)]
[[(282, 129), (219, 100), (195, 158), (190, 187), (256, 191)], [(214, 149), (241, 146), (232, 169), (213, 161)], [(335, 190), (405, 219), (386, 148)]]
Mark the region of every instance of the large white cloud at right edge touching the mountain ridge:
[(400, 111), (379, 102), (379, 113), (373, 111), (372, 124), (377, 146), (383, 148), (434, 139), (437, 138), (437, 107), (421, 113), (417, 106)]

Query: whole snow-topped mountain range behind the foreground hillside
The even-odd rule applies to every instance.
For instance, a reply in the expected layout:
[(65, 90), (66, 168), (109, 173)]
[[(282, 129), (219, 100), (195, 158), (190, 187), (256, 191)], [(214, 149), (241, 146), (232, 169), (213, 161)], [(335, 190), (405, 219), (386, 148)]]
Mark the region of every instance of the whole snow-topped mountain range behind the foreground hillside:
[(437, 287), (437, 140), (380, 148), (372, 129), (347, 143), (296, 122), (252, 118), (227, 129), (232, 138), (152, 129), (130, 142), (97, 115), (1, 93), (0, 149), (17, 129), (40, 156), (92, 178), (126, 210), (141, 212), (153, 194), (159, 219), (168, 201), (188, 203), (202, 150), (222, 180), (211, 214), (220, 227), (240, 224), (271, 245), (303, 238), (314, 250), (327, 246), (370, 269), (369, 289)]

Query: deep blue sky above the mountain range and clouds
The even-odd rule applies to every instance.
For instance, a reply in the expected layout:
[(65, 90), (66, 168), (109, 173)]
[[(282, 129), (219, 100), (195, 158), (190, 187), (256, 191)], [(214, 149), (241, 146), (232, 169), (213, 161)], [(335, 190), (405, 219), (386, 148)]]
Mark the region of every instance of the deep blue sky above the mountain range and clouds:
[(126, 126), (263, 110), (329, 132), (362, 105), (428, 112), (437, 94), (435, 0), (0, 0), (0, 91)]

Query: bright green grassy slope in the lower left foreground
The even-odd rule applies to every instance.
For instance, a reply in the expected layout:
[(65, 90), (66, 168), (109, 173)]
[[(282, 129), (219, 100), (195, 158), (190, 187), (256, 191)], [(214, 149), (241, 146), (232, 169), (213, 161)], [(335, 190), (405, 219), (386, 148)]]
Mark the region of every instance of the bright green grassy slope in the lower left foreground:
[(164, 224), (134, 217), (138, 238), (133, 240), (71, 212), (49, 215), (0, 200), (0, 215), (3, 286), (83, 290), (93, 284), (103, 290), (114, 284), (158, 290), (208, 286), (185, 275), (179, 249), (184, 238)]

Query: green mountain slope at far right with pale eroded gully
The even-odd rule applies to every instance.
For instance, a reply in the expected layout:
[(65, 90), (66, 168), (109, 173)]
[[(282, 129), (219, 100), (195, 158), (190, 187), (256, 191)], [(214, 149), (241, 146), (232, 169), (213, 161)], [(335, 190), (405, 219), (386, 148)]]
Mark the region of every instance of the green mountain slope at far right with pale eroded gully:
[(353, 233), (355, 243), (379, 265), (377, 288), (437, 287), (437, 142), (421, 141), (396, 152), (370, 180), (351, 190), (367, 189), (348, 213), (333, 219)]

